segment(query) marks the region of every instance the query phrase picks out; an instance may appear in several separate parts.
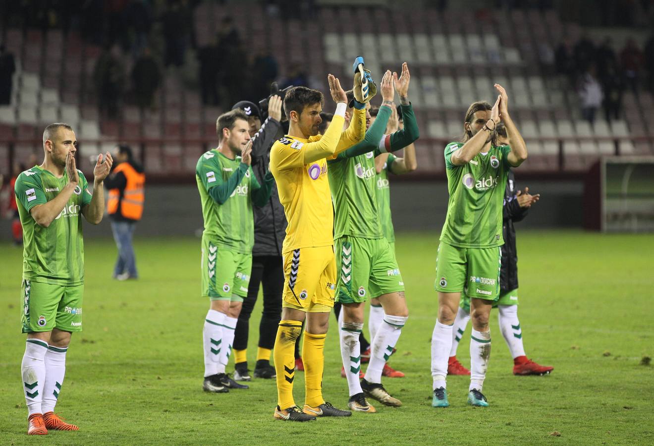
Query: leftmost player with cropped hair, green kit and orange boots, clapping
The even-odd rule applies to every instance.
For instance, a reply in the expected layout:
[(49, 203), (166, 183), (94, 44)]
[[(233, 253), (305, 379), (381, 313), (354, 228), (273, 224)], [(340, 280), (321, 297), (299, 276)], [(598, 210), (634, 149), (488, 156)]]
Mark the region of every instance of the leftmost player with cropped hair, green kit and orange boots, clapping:
[(82, 218), (102, 220), (103, 181), (113, 160), (100, 154), (93, 192), (77, 170), (77, 139), (68, 124), (43, 132), (43, 164), (16, 179), (15, 193), (23, 227), (22, 330), (27, 333), (21, 365), (27, 403), (28, 435), (50, 430), (78, 430), (54, 413), (66, 370), (73, 332), (82, 331), (84, 239)]

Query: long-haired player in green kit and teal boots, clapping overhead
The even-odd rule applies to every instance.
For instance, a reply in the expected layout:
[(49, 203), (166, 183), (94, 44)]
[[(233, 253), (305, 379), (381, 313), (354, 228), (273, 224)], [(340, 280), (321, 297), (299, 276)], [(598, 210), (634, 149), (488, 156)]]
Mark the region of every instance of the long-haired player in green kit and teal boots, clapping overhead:
[[(525, 141), (511, 120), (508, 95), (495, 105), (475, 102), (464, 121), (464, 137), (445, 146), (449, 203), (436, 257), (438, 318), (432, 334), (432, 406), (447, 407), (447, 360), (461, 293), (470, 298), (470, 387), (468, 403), (487, 406), (481, 393), (490, 358), (489, 315), (500, 291), (502, 203), (510, 167), (527, 158)], [(509, 146), (496, 145), (495, 129), (504, 122)]]

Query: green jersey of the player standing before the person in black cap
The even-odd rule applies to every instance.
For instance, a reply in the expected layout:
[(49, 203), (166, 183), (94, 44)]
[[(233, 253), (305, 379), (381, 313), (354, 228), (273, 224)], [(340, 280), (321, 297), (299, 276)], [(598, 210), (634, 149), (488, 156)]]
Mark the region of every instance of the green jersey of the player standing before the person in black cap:
[(243, 178), (222, 205), (209, 195), (211, 188), (228, 182), (232, 175), (238, 174), (239, 169), (245, 170), (245, 167), (241, 167), (240, 156), (230, 160), (216, 149), (200, 156), (196, 166), (196, 181), (204, 217), (203, 235), (216, 245), (235, 252), (251, 253), (254, 246), (251, 194), (252, 190), (260, 188), (252, 167), (247, 167)]

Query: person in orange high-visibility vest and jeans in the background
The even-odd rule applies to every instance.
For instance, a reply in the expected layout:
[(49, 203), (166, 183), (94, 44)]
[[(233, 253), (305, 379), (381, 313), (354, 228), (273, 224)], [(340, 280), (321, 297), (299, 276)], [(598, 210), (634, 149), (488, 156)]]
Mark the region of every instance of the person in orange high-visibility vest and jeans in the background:
[(145, 173), (143, 167), (135, 162), (129, 146), (119, 145), (117, 148), (118, 153), (114, 156), (116, 167), (105, 179), (105, 186), (109, 189), (107, 213), (118, 247), (118, 260), (112, 277), (125, 281), (139, 277), (131, 240), (136, 222), (143, 215)]

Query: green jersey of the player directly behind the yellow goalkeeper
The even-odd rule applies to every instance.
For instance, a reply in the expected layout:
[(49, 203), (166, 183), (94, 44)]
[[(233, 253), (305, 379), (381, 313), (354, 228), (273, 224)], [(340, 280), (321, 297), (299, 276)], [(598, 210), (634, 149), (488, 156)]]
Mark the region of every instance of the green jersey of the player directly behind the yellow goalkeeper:
[(377, 211), (375, 155), (379, 150), (347, 158), (339, 154), (329, 162), (329, 186), (334, 202), (334, 239), (351, 235), (381, 239)]

